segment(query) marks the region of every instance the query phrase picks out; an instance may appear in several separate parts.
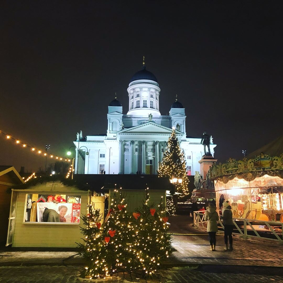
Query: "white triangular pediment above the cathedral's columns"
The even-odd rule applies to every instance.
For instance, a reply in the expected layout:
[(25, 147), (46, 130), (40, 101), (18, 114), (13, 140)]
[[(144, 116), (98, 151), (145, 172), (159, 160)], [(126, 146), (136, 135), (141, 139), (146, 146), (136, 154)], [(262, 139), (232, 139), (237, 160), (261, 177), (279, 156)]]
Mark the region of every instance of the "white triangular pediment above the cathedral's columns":
[[(183, 135), (182, 132), (179, 131), (175, 131), (175, 132), (177, 135), (178, 134)], [(142, 125), (121, 130), (118, 133), (119, 134), (171, 134), (172, 129), (158, 125), (154, 122), (148, 122)]]

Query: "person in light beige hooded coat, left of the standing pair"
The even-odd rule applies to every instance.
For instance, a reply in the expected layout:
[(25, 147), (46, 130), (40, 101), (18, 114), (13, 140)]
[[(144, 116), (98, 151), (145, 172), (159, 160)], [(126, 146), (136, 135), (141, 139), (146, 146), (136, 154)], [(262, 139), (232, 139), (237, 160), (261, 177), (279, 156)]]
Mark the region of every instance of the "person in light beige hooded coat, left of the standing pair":
[(217, 221), (219, 220), (218, 213), (216, 212), (216, 206), (212, 203), (206, 208), (206, 212), (204, 214), (204, 221), (207, 221), (207, 229), (209, 235), (209, 242), (210, 242), (210, 250), (215, 251), (216, 245), (216, 232), (218, 231), (217, 228)]

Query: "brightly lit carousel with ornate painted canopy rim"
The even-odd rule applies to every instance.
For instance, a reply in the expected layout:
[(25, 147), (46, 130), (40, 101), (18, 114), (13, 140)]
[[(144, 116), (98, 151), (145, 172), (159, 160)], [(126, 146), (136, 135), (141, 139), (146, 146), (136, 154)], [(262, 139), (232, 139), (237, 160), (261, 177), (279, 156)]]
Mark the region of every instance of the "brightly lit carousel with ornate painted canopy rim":
[(228, 200), (235, 218), (283, 222), (283, 153), (248, 157), (230, 158), (210, 168), (217, 210), (221, 212), (222, 203)]

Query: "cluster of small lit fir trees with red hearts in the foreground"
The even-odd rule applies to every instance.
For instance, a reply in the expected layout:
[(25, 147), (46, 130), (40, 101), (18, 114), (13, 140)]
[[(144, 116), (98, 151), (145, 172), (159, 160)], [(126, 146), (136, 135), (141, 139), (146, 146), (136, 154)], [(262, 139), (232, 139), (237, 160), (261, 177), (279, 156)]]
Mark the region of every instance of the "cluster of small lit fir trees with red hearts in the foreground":
[(134, 213), (127, 212), (125, 195), (115, 190), (111, 208), (106, 218), (99, 210), (89, 206), (89, 213), (82, 216), (85, 227), (84, 244), (80, 254), (87, 266), (82, 277), (106, 278), (117, 271), (141, 270), (151, 275), (160, 265), (160, 260), (171, 253), (171, 236), (167, 234), (168, 224), (162, 201), (156, 206), (147, 205)]

